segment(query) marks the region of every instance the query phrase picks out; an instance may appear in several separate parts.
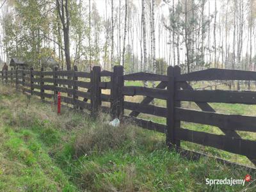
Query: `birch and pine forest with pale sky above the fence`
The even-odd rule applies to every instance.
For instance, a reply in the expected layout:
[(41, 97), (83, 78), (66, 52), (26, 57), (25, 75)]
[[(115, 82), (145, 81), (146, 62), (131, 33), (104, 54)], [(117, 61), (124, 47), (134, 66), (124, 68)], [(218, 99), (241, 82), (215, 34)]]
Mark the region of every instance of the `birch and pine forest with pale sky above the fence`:
[[(204, 68), (255, 70), (253, 0), (4, 0), (1, 63), (125, 73)], [(44, 66), (44, 67), (52, 67)]]

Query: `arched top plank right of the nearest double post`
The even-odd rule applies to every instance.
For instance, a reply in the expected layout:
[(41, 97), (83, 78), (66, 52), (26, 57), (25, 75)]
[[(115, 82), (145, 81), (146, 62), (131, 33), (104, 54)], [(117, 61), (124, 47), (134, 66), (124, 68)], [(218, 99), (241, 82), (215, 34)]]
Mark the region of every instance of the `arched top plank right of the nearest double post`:
[(230, 70), (220, 68), (209, 68), (182, 74), (176, 81), (214, 81), (214, 80), (244, 80), (255, 81), (256, 72), (246, 70)]

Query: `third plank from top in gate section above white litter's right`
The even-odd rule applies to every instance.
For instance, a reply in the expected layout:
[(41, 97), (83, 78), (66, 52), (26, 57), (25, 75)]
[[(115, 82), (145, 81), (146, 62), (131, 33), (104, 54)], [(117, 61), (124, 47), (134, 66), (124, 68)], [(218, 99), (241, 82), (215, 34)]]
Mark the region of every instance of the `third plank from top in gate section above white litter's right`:
[(124, 108), (132, 111), (138, 111), (140, 113), (149, 114), (149, 115), (162, 116), (162, 117), (167, 116), (166, 108), (161, 108), (161, 107), (152, 106), (152, 105), (145, 105), (145, 104), (140, 104), (135, 102), (124, 101)]

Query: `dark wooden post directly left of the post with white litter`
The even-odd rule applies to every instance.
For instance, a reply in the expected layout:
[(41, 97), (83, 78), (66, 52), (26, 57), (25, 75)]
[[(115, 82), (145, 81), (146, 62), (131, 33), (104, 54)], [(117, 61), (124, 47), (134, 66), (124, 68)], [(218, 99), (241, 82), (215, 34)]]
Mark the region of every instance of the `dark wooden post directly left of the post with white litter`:
[(91, 114), (93, 118), (99, 115), (100, 109), (100, 67), (94, 66), (91, 72)]

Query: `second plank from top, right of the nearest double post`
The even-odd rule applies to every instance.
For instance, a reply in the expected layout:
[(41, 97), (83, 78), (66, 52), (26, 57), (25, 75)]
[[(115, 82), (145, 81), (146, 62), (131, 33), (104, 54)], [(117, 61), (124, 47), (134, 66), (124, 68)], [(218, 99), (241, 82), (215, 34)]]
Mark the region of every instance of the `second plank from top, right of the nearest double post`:
[(193, 102), (223, 102), (256, 104), (256, 92), (236, 92), (223, 90), (178, 90), (176, 100)]

